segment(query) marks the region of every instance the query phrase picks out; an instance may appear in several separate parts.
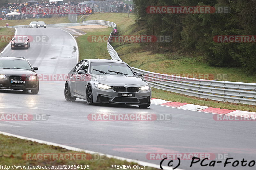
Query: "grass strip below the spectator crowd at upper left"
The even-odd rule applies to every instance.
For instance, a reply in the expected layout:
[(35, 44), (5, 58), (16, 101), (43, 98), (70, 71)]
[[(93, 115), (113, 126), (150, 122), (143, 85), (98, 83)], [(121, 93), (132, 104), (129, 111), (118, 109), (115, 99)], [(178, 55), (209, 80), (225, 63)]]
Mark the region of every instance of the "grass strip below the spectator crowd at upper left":
[(6, 26), (6, 23), (9, 26), (14, 25), (29, 25), (31, 21), (44, 21), (46, 24), (56, 24), (56, 23), (70, 23), (68, 17), (52, 17), (52, 18), (30, 18), (30, 19), (21, 19), (21, 20), (2, 20), (0, 21), (0, 26)]

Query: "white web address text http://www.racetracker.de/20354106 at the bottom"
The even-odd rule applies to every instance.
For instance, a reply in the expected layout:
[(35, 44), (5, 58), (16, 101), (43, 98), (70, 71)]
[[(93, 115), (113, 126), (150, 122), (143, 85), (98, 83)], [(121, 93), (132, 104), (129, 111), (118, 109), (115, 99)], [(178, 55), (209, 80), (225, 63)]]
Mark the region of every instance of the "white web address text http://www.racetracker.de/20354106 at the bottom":
[(57, 169), (90, 169), (89, 165), (0, 165), (1, 170), (35, 170), (35, 169), (47, 169), (47, 170), (57, 170)]

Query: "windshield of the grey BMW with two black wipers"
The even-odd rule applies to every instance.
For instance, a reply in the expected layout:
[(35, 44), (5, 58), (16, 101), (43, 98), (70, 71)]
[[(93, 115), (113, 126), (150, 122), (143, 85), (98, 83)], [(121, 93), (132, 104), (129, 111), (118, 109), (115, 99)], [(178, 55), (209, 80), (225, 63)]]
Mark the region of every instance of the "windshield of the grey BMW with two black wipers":
[(113, 62), (92, 62), (90, 73), (102, 75), (106, 75), (106, 73), (109, 75), (134, 75), (127, 64)]

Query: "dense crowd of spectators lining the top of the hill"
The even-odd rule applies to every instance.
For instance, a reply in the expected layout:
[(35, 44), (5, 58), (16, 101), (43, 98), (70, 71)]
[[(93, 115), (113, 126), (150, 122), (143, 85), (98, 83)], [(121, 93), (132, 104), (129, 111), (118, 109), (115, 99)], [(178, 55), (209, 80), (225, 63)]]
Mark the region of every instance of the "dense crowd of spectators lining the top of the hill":
[[(63, 11), (53, 13), (50, 8), (56, 7), (57, 9), (64, 9)], [(0, 6), (0, 20), (10, 20), (10, 19), (28, 19), (28, 18), (50, 18), (53, 15), (65, 16), (68, 15), (65, 10), (68, 8), (83, 7), (83, 10), (79, 15), (89, 15), (96, 12), (120, 12), (127, 13), (128, 11), (133, 11), (132, 4), (125, 4), (124, 1), (117, 0), (107, 0), (107, 1), (96, 1), (94, 3), (82, 3), (69, 1), (64, 3), (62, 1), (48, 3), (48, 1), (35, 1), (30, 0), (30, 2), (24, 3), (7, 3), (4, 6)], [(10, 12), (17, 12), (20, 15), (6, 15)]]

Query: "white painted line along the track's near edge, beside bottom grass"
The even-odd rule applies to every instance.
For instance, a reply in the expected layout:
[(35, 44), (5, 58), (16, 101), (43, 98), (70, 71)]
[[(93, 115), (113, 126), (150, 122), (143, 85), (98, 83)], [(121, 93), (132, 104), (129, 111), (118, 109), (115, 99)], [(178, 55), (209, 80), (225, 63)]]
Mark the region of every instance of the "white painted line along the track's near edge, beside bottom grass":
[[(123, 158), (123, 157), (119, 157), (119, 156), (103, 154), (103, 153), (100, 153), (100, 152), (84, 150), (84, 149), (80, 149), (80, 148), (75, 148), (75, 147), (71, 147), (71, 146), (67, 146), (67, 145), (61, 145), (61, 144), (57, 144), (57, 143), (53, 143), (53, 142), (47, 142), (47, 141), (44, 141), (44, 140), (39, 140), (39, 139), (34, 139), (34, 138), (27, 138), (27, 137), (24, 137), (24, 136), (14, 135), (14, 134), (2, 132), (2, 131), (0, 131), (0, 134), (6, 135), (6, 136), (12, 136), (12, 137), (16, 137), (16, 138), (20, 138), (20, 139), (24, 139), (24, 140), (30, 140), (32, 142), (37, 142), (37, 143), (40, 143), (40, 144), (62, 147), (62, 148), (72, 150), (72, 151), (85, 152), (85, 153), (89, 153), (89, 154), (97, 154), (97, 155), (100, 155), (100, 156), (106, 156), (108, 158), (114, 158), (114, 159), (127, 161), (127, 162), (134, 162), (134, 163), (137, 163), (139, 165), (144, 165), (144, 166), (147, 166), (147, 167), (153, 167), (153, 168), (157, 168), (157, 169), (160, 168), (160, 166), (157, 165), (157, 164), (152, 164), (152, 163), (143, 162), (143, 161), (139, 161), (139, 160), (134, 160), (134, 159), (128, 159), (128, 158)], [(168, 167), (168, 166), (162, 166), (162, 167), (164, 168), (164, 170), (172, 170), (172, 167)], [(184, 169), (178, 169), (177, 168), (176, 170), (184, 170)]]

